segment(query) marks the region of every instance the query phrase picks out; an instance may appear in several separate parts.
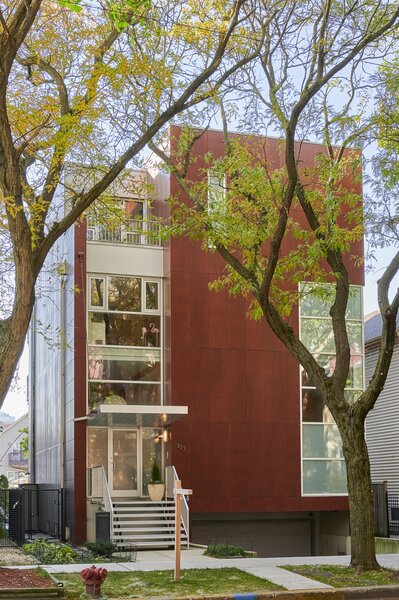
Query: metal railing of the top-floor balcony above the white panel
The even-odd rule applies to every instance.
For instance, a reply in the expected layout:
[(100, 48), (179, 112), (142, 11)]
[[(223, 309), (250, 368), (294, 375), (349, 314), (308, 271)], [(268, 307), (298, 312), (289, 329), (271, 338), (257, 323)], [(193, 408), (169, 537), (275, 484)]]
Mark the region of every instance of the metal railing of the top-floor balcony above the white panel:
[(108, 226), (87, 220), (87, 240), (130, 246), (161, 246), (161, 223), (153, 219), (126, 219)]

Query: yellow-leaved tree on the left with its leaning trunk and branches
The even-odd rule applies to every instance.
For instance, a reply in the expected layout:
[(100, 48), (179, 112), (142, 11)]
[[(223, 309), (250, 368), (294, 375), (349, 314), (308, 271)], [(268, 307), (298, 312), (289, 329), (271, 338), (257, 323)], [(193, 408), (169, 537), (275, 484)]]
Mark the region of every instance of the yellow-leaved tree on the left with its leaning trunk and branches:
[(49, 250), (170, 119), (198, 119), (256, 54), (240, 37), (246, 5), (0, 3), (0, 406)]

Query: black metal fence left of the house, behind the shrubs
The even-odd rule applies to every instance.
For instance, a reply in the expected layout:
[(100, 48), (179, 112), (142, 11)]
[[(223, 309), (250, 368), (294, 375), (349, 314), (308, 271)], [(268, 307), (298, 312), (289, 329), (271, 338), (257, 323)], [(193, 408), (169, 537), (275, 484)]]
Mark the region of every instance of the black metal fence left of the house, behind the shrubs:
[(0, 546), (37, 536), (64, 539), (63, 490), (29, 485), (0, 490)]

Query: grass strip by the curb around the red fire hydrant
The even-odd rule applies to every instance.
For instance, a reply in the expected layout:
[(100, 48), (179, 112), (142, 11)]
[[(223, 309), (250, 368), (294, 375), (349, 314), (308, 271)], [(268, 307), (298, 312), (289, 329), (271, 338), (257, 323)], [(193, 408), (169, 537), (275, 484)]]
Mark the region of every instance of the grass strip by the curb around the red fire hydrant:
[[(79, 573), (59, 573), (69, 600), (84, 598), (83, 580)], [(185, 569), (180, 581), (173, 580), (173, 571), (135, 571), (108, 573), (101, 590), (105, 598), (173, 597), (192, 594), (236, 594), (284, 588), (239, 569)]]

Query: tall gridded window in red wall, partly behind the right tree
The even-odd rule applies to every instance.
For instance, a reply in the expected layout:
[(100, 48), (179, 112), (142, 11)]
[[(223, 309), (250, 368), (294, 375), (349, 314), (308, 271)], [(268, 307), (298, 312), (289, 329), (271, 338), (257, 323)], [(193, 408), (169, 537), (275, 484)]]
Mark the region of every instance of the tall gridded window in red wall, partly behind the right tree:
[[(330, 317), (332, 286), (301, 285), (301, 341), (331, 375), (335, 369), (335, 343)], [(320, 293), (321, 292), (321, 293)], [(345, 395), (354, 402), (363, 390), (361, 288), (351, 286), (346, 313), (351, 360)], [(311, 377), (301, 369), (302, 492), (304, 495), (346, 494), (346, 468), (342, 441), (327, 406)]]

